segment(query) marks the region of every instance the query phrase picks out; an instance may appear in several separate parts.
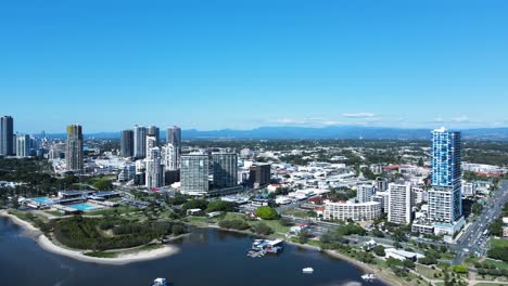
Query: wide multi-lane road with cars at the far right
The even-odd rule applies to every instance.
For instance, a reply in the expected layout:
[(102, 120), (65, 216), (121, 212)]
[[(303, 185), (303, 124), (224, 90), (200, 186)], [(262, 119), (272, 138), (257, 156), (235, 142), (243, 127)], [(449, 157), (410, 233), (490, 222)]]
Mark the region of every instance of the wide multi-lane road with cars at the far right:
[(506, 202), (508, 202), (508, 180), (501, 180), (499, 181), (499, 190), (493, 193), (485, 206), (483, 206), (482, 213), (458, 239), (455, 246), (457, 256), (452, 261), (454, 264), (462, 263), (469, 253), (485, 256), (488, 238), (483, 233), (488, 224), (500, 216)]

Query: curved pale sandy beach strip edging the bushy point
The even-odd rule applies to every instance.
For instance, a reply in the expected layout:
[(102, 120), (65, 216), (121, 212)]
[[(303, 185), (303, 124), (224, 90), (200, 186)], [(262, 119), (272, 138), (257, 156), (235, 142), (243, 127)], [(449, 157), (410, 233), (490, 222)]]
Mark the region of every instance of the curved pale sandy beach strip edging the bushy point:
[[(91, 263), (100, 263), (100, 264), (110, 264), (110, 265), (124, 265), (134, 262), (141, 262), (148, 260), (155, 260), (164, 257), (168, 257), (172, 255), (176, 255), (179, 251), (179, 248), (174, 245), (164, 245), (162, 248), (151, 249), (151, 250), (141, 250), (138, 252), (127, 252), (122, 253), (119, 252), (118, 257), (115, 258), (99, 258), (99, 257), (89, 257), (86, 256), (85, 252), (87, 250), (76, 250), (76, 249), (68, 249), (62, 246), (55, 245), (51, 242), (48, 236), (46, 236), (40, 230), (36, 229), (29, 222), (24, 221), (16, 216), (8, 213), (5, 210), (0, 211), (0, 217), (9, 218), (11, 221), (23, 227), (25, 232), (28, 232), (28, 236), (35, 240), (42, 249), (46, 251), (72, 258), (75, 260), (84, 261), (84, 262), (91, 262)], [(176, 239), (180, 236), (173, 237), (169, 240)]]

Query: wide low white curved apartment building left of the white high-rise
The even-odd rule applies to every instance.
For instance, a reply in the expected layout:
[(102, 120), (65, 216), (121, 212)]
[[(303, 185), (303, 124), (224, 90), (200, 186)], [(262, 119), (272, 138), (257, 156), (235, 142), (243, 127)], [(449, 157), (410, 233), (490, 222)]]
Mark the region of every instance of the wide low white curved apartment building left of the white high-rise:
[(377, 202), (368, 203), (326, 203), (323, 218), (326, 220), (348, 220), (368, 221), (381, 217), (381, 204)]

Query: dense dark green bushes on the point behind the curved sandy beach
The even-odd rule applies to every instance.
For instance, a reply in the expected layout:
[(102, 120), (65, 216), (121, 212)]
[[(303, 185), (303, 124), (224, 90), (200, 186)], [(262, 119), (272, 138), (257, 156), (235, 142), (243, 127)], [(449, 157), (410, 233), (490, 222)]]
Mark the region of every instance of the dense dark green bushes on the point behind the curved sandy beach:
[[(55, 222), (53, 229), (55, 238), (68, 247), (106, 250), (135, 247), (153, 239), (161, 239), (172, 234), (176, 225), (179, 224), (172, 222), (134, 223), (124, 219), (90, 219), (76, 216)], [(103, 233), (106, 231), (111, 232), (111, 235)]]

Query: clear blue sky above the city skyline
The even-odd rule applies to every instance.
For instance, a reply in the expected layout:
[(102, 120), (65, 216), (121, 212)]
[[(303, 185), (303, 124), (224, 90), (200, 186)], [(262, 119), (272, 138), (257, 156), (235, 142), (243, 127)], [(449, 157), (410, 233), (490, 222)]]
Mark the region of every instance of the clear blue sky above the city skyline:
[(507, 1), (0, 3), (20, 132), (508, 126)]

